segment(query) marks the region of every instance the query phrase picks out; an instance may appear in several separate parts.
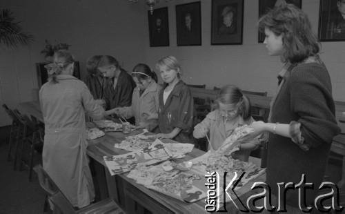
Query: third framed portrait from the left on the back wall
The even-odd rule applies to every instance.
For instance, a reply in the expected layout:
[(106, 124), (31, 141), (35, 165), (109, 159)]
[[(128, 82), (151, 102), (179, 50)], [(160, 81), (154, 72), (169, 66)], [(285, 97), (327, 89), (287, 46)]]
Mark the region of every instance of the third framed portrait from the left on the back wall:
[(211, 44), (242, 44), (243, 0), (213, 0), (211, 15)]

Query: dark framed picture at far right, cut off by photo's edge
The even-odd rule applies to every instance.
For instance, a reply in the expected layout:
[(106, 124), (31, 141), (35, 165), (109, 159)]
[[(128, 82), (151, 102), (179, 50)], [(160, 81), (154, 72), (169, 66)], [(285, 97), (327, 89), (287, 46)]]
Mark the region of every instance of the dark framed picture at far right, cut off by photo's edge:
[(345, 10), (344, 0), (321, 0), (318, 30), (320, 41), (345, 41), (345, 21), (339, 10)]

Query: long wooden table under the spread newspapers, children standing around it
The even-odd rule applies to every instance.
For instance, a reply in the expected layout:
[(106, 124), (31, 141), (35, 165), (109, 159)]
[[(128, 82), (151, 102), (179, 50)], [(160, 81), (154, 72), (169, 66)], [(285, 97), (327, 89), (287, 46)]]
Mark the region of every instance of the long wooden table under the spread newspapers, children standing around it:
[[(131, 135), (140, 132), (141, 130), (135, 130)], [(99, 176), (97, 179), (99, 179), (101, 183), (107, 184), (107, 186), (101, 186), (101, 195), (103, 195), (103, 197), (109, 195), (114, 200), (117, 200), (121, 206), (124, 206), (124, 209), (128, 211), (128, 213), (141, 213), (140, 207), (144, 207), (152, 213), (206, 213), (204, 200), (188, 204), (137, 184), (134, 180), (126, 176), (128, 173), (111, 176), (108, 168), (106, 168), (103, 156), (128, 153), (125, 150), (114, 147), (115, 143), (120, 143), (124, 137), (126, 137), (126, 135), (119, 132), (106, 133), (106, 136), (89, 141), (92, 145), (88, 146), (88, 155), (97, 162), (97, 175), (103, 176)], [(171, 139), (163, 139), (162, 142), (169, 143), (174, 141)], [(199, 157), (202, 154), (204, 154), (204, 151), (194, 148), (192, 153), (188, 153), (184, 158), (175, 159), (174, 161), (181, 163)], [(252, 191), (250, 186), (252, 186), (254, 182), (264, 182), (265, 177), (266, 174), (260, 175), (256, 179), (248, 182), (248, 184), (242, 188), (239, 188), (237, 194), (241, 197), (241, 200), (246, 200), (249, 195), (257, 193), (257, 191)], [(106, 191), (108, 191), (108, 195), (106, 195)], [(135, 204), (139, 204), (140, 206), (137, 206), (136, 209)], [(228, 203), (226, 208), (229, 213), (235, 213), (235, 211), (237, 211), (237, 208), (235, 208), (232, 202)]]

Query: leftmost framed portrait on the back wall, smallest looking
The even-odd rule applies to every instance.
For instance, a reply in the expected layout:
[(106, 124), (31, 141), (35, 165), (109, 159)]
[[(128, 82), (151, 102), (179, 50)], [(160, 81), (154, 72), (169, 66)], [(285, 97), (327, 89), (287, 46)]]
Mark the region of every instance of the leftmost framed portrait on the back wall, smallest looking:
[(150, 47), (169, 46), (168, 7), (148, 10), (148, 30)]

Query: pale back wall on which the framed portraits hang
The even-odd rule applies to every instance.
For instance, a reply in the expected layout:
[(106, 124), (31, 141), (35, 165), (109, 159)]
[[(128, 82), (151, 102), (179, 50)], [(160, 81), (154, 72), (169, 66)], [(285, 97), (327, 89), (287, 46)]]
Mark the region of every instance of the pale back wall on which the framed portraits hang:
[[(194, 1), (174, 1), (174, 4)], [(206, 88), (235, 84), (244, 90), (275, 93), (277, 74), (283, 64), (279, 57), (269, 57), (263, 43), (257, 42), (259, 1), (244, 1), (242, 45), (211, 46), (211, 0), (201, 1), (201, 46), (177, 46), (175, 6), (168, 6), (170, 47), (150, 48), (146, 44), (146, 61), (155, 65), (165, 55), (175, 55), (181, 63), (187, 84), (206, 84)], [(302, 10), (308, 14), (317, 34), (319, 1), (303, 0)], [(146, 30), (148, 41), (148, 30)], [(147, 42), (146, 42), (147, 43)], [(335, 100), (345, 101), (345, 41), (322, 42), (321, 57), (331, 75)]]

